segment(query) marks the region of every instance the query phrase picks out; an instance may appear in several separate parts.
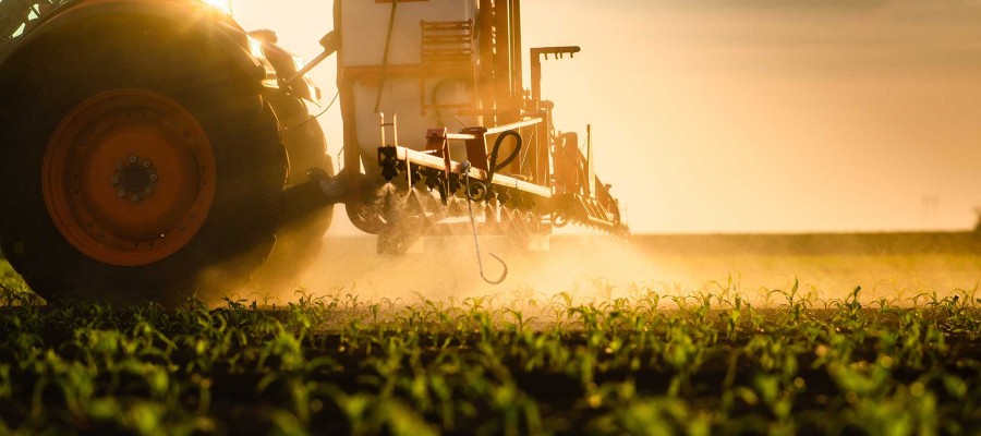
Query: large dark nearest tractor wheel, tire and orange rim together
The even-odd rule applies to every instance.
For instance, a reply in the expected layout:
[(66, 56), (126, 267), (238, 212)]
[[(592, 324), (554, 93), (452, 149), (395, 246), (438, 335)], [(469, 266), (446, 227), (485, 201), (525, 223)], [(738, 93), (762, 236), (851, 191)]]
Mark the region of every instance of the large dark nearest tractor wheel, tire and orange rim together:
[(287, 161), (227, 46), (138, 13), (31, 43), (0, 65), (0, 249), (25, 281), (49, 302), (175, 305), (247, 279)]

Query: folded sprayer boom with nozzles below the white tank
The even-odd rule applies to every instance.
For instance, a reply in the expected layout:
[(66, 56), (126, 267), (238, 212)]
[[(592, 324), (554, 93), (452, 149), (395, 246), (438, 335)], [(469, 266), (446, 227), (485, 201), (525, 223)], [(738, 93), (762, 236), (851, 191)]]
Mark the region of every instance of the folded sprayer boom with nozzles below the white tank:
[[(626, 227), (620, 225), (617, 203), (607, 194), (605, 186), (600, 187), (606, 199), (602, 203), (600, 196), (590, 196), (582, 190), (557, 193), (553, 186), (535, 183), (534, 177), (498, 172), (506, 167), (506, 161), (522, 154), (521, 132), (534, 135), (542, 124), (541, 119), (531, 119), (493, 130), (468, 129), (457, 134), (447, 133), (446, 129), (434, 129), (427, 134), (425, 150), (399, 145), (379, 147), (378, 166), (383, 177), (391, 184), (388, 192), (407, 192), (411, 186), (417, 191), (414, 197), (435, 192), (445, 206), (455, 202), (476, 203), (486, 209), (483, 221), (488, 225), (500, 225), (517, 214), (523, 217), (525, 227), (535, 231), (547, 232), (552, 227), (562, 227), (571, 220), (626, 234)], [(488, 135), (497, 135), (489, 150), (486, 142)], [(508, 137), (516, 141), (513, 157), (501, 162), (498, 161), (498, 152)], [(460, 156), (451, 154), (450, 143), (455, 141), (465, 144)], [(524, 154), (531, 153), (535, 150)], [(438, 220), (427, 221), (424, 222), (427, 228), (439, 226)]]

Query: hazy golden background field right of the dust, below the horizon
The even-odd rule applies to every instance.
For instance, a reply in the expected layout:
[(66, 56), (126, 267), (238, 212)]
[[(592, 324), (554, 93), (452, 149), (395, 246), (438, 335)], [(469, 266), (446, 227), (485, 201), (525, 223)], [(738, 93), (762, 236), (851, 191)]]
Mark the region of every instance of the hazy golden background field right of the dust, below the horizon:
[(835, 233), (639, 235), (631, 240), (661, 279), (699, 287), (729, 275), (749, 294), (787, 289), (843, 299), (856, 287), (873, 299), (950, 295), (981, 281), (981, 234)]

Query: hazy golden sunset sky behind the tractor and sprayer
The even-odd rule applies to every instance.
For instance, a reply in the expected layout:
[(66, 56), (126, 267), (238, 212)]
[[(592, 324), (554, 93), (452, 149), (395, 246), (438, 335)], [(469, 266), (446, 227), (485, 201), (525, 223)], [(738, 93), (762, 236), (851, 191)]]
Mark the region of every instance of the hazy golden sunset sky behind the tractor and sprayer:
[[(326, 0), (232, 5), (244, 27), (275, 29), (307, 59), (332, 27)], [(981, 1), (522, 7), (525, 50), (582, 47), (545, 63), (543, 95), (556, 102), (557, 129), (592, 124), (597, 174), (635, 233), (960, 230), (977, 221)], [(327, 100), (335, 69), (331, 58), (312, 73)], [(340, 111), (320, 121), (336, 155)]]

